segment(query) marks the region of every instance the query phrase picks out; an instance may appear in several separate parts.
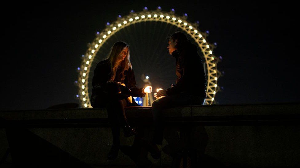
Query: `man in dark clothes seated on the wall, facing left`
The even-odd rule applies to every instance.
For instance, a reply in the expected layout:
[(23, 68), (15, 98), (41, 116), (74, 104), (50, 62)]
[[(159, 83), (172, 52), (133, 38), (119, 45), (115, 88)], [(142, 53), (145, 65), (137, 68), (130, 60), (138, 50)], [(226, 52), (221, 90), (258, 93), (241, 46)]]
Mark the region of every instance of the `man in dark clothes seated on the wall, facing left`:
[(176, 59), (176, 84), (154, 94), (152, 103), (154, 134), (151, 143), (151, 155), (160, 157), (159, 145), (163, 141), (163, 111), (167, 108), (182, 105), (204, 104), (206, 98), (206, 75), (197, 47), (182, 32), (170, 36), (169, 53)]

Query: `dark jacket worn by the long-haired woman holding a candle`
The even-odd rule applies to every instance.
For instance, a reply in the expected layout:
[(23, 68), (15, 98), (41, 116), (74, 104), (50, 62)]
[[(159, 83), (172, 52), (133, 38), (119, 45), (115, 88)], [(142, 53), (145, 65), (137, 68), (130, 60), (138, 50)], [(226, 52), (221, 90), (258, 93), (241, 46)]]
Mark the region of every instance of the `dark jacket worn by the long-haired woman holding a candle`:
[[(96, 95), (103, 94), (103, 85), (106, 84), (107, 81), (109, 81), (112, 77), (111, 73), (112, 67), (109, 64), (109, 60), (101, 61), (97, 64), (95, 70), (94, 70), (94, 76), (93, 76), (93, 89), (92, 89), (92, 95), (91, 95), (91, 103), (93, 105), (93, 98)], [(143, 88), (136, 88), (136, 80), (134, 77), (134, 71), (129, 67), (128, 70), (124, 71), (125, 79), (121, 80), (121, 72), (116, 72), (115, 82), (122, 82), (126, 85), (127, 88), (131, 90), (132, 97), (144, 97), (143, 94)], [(136, 102), (132, 99), (132, 104), (139, 106), (136, 104)], [(131, 105), (131, 106), (133, 106)]]

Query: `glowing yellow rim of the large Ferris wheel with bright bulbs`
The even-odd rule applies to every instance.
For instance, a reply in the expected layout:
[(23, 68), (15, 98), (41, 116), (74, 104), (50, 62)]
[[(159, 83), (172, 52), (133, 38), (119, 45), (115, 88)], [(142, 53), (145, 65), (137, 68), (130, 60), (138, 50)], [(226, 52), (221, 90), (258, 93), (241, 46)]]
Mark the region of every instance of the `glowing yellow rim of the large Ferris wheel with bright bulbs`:
[(136, 24), (139, 22), (146, 21), (159, 21), (167, 24), (172, 24), (181, 28), (184, 32), (191, 36), (192, 39), (198, 44), (201, 49), (203, 56), (205, 58), (206, 68), (207, 68), (207, 88), (206, 88), (206, 104), (213, 104), (215, 102), (215, 94), (218, 91), (218, 70), (217, 70), (217, 60), (212, 53), (213, 47), (207, 42), (205, 37), (198, 30), (197, 25), (191, 24), (186, 17), (180, 17), (174, 13), (164, 12), (160, 10), (156, 11), (142, 11), (138, 13), (130, 13), (129, 15), (119, 18), (117, 21), (113, 22), (107, 28), (105, 28), (99, 34), (97, 33), (96, 38), (89, 45), (89, 49), (85, 53), (83, 61), (81, 63), (79, 77), (78, 77), (78, 92), (81, 107), (91, 108), (91, 102), (89, 99), (88, 92), (88, 79), (89, 72), (93, 62), (94, 57), (97, 52), (101, 50), (102, 45), (116, 32), (121, 29)]

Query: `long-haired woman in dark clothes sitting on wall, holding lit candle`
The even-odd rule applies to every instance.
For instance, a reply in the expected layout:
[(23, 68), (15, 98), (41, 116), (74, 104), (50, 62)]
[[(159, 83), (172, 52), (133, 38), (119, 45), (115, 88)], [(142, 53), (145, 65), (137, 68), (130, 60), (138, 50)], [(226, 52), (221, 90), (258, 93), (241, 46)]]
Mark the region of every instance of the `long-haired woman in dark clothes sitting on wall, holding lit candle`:
[[(109, 151), (108, 159), (118, 156), (120, 148), (120, 127), (124, 136), (136, 134), (127, 123), (124, 106), (139, 106), (132, 97), (144, 97), (145, 88), (136, 88), (136, 80), (130, 63), (129, 46), (116, 42), (109, 57), (97, 64), (93, 76), (93, 90), (91, 104), (93, 107), (106, 107), (113, 133), (113, 145)], [(152, 87), (146, 89), (152, 91)]]

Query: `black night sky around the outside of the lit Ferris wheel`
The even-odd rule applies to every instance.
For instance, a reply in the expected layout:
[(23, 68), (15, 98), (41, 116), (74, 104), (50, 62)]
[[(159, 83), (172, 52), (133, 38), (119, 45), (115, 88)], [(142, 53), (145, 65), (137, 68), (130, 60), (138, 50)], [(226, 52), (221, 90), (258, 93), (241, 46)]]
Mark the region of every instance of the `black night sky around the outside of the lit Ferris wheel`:
[[(216, 94), (219, 104), (300, 101), (299, 18), (290, 2), (8, 2), (1, 10), (0, 110), (79, 103), (74, 81), (87, 44), (119, 14), (138, 12), (145, 6), (149, 10), (174, 8), (180, 16), (188, 13), (189, 21), (199, 21), (200, 31), (210, 32), (207, 40), (217, 43), (214, 54), (223, 57), (218, 69), (225, 72), (218, 80), (224, 88)], [(131, 50), (134, 47), (131, 44)], [(168, 52), (167, 43), (161, 47)]]

